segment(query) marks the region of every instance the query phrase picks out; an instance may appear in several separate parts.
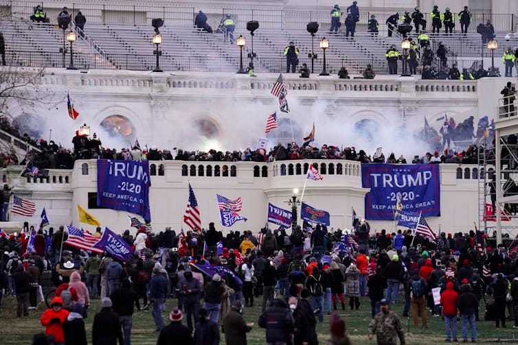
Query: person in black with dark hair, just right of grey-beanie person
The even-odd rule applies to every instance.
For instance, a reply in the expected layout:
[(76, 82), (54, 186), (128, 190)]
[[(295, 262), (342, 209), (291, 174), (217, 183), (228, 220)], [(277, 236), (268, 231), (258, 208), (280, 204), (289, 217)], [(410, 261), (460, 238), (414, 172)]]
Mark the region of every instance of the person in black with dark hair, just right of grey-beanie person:
[(125, 278), (122, 287), (115, 290), (110, 296), (113, 311), (119, 314), (122, 331), (124, 333), (124, 345), (131, 344), (131, 327), (133, 324), (133, 306), (139, 301), (139, 296), (131, 289), (130, 281)]

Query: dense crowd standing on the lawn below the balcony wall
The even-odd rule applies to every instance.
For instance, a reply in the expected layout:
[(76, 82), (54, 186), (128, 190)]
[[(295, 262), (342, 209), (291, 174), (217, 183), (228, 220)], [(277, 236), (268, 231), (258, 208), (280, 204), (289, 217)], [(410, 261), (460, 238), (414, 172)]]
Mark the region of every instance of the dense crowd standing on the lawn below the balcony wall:
[[(131, 344), (135, 308), (151, 309), (157, 344), (218, 344), (220, 337), (226, 344), (245, 344), (253, 324), (245, 322), (243, 310), (258, 298), (258, 325), (269, 344), (317, 344), (315, 326), (326, 314), (329, 344), (350, 344), (336, 312), (364, 313), (363, 296), (370, 299), (372, 319), (363, 331), (378, 344), (396, 344), (398, 338), (405, 344), (401, 316), (390, 310), (398, 303), (416, 328), (426, 329), (429, 316), (442, 316), (447, 342), (460, 339), (458, 316), (464, 341), (477, 340), (481, 318), (506, 327), (506, 311), (518, 326), (516, 246), (490, 248), (486, 235), (473, 230), (429, 239), (412, 230), (370, 235), (368, 222), (354, 223), (347, 233), (317, 225), (298, 226), (291, 234), (263, 228), (224, 236), (213, 223), (186, 234), (140, 228), (133, 237), (126, 230), (122, 239), (135, 251), (126, 262), (62, 246), (68, 236), (63, 226), (33, 233), (34, 248), (27, 250), (34, 228), (25, 224), (19, 235), (0, 237), (0, 292), (16, 296), (18, 318), (39, 313), (41, 275), (52, 272), (57, 289), (41, 316), (46, 333), (35, 335), (37, 344), (49, 337), (86, 344), (83, 319), (96, 298), (101, 309), (93, 318), (93, 344)], [(100, 237), (101, 229), (93, 236)], [(436, 289), (440, 300), (433, 298)], [(176, 307), (166, 326), (162, 313), (169, 298)]]

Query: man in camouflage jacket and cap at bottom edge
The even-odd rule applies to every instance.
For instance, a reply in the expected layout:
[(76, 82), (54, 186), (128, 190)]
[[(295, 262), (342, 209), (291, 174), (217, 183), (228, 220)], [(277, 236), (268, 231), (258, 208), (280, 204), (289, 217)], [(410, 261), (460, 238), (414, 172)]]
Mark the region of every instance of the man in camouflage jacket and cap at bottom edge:
[(378, 345), (396, 345), (399, 338), (401, 345), (405, 345), (403, 326), (396, 313), (390, 311), (390, 303), (383, 298), (379, 305), (381, 311), (376, 314), (369, 324), (369, 340), (372, 340), (374, 335), (376, 335)]

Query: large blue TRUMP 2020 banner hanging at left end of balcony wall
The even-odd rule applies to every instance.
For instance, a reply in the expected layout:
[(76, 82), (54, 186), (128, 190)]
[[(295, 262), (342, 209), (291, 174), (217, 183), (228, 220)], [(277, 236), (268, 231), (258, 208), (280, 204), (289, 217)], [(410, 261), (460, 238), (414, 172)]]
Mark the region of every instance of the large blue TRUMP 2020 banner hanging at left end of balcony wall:
[(150, 222), (147, 160), (97, 161), (97, 205), (141, 215)]

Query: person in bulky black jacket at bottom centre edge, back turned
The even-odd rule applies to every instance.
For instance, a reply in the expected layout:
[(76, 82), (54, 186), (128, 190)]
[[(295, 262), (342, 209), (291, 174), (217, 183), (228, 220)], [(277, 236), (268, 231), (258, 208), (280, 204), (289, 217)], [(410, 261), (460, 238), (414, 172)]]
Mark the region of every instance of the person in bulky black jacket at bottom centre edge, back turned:
[(276, 299), (259, 316), (258, 324), (261, 328), (266, 329), (267, 344), (286, 344), (293, 329), (293, 317), (286, 302)]

